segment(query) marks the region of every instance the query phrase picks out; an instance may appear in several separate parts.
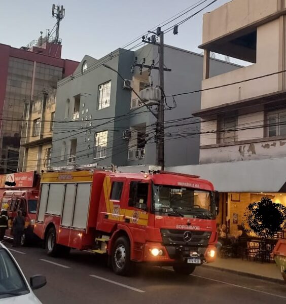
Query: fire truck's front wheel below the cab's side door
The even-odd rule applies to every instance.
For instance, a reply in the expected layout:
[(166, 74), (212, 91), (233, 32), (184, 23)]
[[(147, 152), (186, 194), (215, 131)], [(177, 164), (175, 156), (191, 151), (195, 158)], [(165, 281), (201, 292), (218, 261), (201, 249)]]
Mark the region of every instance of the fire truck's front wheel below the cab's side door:
[(132, 273), (130, 260), (130, 244), (126, 237), (119, 237), (113, 246), (111, 264), (113, 271), (120, 276), (128, 276)]

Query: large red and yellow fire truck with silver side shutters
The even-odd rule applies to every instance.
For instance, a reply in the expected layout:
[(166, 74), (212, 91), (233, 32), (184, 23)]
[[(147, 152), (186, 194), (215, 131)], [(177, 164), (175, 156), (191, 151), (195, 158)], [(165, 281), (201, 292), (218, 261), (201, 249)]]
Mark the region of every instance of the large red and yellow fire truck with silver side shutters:
[(118, 275), (135, 262), (188, 275), (216, 256), (216, 193), (199, 176), (85, 170), (43, 173), (34, 233), (47, 254), (108, 254)]

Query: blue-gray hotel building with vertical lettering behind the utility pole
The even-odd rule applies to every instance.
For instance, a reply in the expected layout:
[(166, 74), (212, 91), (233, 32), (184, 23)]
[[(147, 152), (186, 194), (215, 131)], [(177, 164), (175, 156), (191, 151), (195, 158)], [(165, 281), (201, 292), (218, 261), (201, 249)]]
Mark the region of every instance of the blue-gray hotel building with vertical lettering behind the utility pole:
[[(156, 119), (124, 84), (132, 88), (159, 84), (158, 70), (140, 69), (134, 63), (158, 66), (158, 47), (147, 45), (135, 52), (118, 49), (96, 60), (85, 56), (75, 73), (58, 82), (55, 124), (51, 150), (52, 167), (154, 165), (156, 163)], [(199, 90), (203, 56), (171, 46), (164, 48), (164, 92), (166, 96)], [(133, 71), (131, 66), (133, 65)], [(210, 60), (210, 74), (218, 75), (237, 65)], [(165, 166), (199, 163), (200, 121), (191, 113), (200, 109), (200, 93), (166, 98)], [(152, 106), (156, 112), (156, 105)]]

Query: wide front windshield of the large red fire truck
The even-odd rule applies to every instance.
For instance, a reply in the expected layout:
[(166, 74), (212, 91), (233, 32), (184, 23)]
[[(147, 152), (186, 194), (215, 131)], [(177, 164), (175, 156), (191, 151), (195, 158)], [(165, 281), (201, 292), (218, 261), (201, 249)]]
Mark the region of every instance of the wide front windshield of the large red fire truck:
[(215, 203), (210, 191), (154, 185), (153, 194), (155, 212), (182, 217), (213, 218)]

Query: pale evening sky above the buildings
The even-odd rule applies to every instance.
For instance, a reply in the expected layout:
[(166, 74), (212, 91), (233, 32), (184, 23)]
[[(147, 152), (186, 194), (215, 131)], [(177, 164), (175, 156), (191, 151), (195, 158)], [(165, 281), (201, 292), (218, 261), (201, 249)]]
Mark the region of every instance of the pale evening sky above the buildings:
[[(218, 0), (194, 18), (164, 36), (164, 43), (193, 52), (202, 41), (203, 13), (229, 2)], [(84, 55), (96, 59), (123, 47), (129, 41), (156, 27), (198, 0), (0, 0), (0, 43), (19, 48), (38, 39), (40, 31), (52, 29), (52, 5), (63, 5), (60, 24), (62, 58), (81, 61)], [(207, 3), (211, 2), (209, 0)], [(197, 11), (199, 6), (194, 11)], [(186, 14), (189, 16), (190, 13)], [(181, 19), (179, 19), (181, 20)], [(171, 24), (174, 24), (173, 21)], [(217, 58), (224, 59), (223, 56)], [(236, 62), (237, 61), (233, 61)]]

